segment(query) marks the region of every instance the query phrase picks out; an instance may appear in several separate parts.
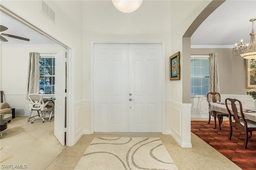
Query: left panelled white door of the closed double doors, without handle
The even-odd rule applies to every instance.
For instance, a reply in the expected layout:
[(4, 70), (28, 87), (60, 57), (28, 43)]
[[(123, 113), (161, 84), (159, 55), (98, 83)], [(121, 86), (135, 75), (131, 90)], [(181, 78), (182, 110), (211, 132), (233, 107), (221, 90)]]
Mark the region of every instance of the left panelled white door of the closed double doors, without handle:
[(94, 132), (127, 132), (127, 45), (94, 45)]

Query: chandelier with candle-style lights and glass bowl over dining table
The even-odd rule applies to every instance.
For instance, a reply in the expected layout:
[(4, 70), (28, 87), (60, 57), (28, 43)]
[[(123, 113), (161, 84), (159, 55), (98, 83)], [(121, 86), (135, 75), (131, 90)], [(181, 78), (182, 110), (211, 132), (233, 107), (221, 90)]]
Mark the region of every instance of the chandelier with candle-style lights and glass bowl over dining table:
[(256, 18), (251, 19), (250, 22), (252, 22), (252, 32), (250, 33), (251, 40), (250, 44), (243, 44), (243, 40), (241, 40), (241, 43), (237, 45), (235, 44), (236, 47), (234, 49), (234, 55), (240, 55), (241, 57), (244, 57), (245, 59), (251, 59), (254, 60), (256, 59), (256, 42), (255, 42), (255, 32), (254, 32), (254, 24), (253, 22), (256, 21)]

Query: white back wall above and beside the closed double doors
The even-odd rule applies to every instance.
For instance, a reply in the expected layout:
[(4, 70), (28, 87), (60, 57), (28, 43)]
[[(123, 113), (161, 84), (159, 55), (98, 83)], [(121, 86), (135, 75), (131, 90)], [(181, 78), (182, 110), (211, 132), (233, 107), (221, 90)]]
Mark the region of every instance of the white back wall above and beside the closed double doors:
[[(90, 50), (91, 42), (133, 41), (164, 42), (165, 79), (169, 79), (171, 1), (144, 1), (132, 13), (118, 11), (111, 1), (84, 1), (84, 105), (90, 107)], [(159, 9), (161, 9), (159, 12)], [(168, 74), (167, 74), (168, 73)], [(167, 87), (168, 89), (170, 87)], [(166, 94), (168, 95), (168, 94)], [(86, 108), (84, 108), (86, 109)], [(90, 131), (90, 115), (86, 113), (84, 131)], [(170, 118), (169, 116), (167, 118)], [(170, 119), (167, 119), (170, 124)], [(168, 125), (170, 127), (170, 125)], [(170, 131), (170, 128), (168, 129)]]

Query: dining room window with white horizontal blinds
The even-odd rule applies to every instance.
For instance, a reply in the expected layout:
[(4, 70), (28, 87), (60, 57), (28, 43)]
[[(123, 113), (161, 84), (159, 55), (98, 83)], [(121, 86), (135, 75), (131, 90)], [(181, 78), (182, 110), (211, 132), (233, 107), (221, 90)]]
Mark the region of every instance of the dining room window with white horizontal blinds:
[(191, 56), (190, 93), (207, 95), (209, 92), (209, 55)]

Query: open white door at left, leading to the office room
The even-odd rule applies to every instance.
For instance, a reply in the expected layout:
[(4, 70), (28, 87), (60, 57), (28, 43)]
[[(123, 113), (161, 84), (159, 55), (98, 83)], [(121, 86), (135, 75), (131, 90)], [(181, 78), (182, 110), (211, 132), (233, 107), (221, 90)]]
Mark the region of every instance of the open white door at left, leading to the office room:
[(65, 145), (65, 89), (66, 89), (66, 51), (55, 55), (55, 105), (54, 105), (54, 135)]

